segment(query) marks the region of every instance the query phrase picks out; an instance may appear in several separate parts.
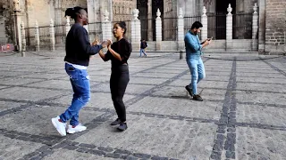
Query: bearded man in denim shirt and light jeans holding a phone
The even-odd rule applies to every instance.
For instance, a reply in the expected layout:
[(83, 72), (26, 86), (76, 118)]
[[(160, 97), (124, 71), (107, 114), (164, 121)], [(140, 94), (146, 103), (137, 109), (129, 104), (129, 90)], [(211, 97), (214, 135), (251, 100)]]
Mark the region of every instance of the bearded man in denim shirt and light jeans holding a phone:
[(197, 91), (197, 84), (206, 77), (205, 67), (201, 59), (202, 49), (211, 43), (212, 39), (208, 38), (200, 43), (198, 33), (200, 33), (203, 25), (199, 21), (195, 21), (189, 32), (185, 36), (186, 60), (189, 66), (191, 82), (185, 88), (193, 100), (203, 101)]

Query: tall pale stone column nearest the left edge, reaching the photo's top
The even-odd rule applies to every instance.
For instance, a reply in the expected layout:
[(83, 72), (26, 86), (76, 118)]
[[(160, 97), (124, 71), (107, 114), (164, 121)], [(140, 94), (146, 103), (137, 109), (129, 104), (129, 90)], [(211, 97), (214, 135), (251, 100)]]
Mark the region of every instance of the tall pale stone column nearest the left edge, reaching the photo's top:
[(19, 0), (13, 0), (13, 12), (15, 20), (15, 37), (17, 50), (21, 51), (21, 9)]

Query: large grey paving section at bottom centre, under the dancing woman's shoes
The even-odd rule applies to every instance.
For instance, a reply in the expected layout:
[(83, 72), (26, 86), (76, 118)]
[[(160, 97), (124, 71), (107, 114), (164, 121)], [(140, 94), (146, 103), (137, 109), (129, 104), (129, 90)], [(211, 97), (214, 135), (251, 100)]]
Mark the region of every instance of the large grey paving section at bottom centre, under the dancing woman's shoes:
[(116, 133), (114, 128), (108, 126), (111, 123), (109, 121), (75, 141), (179, 159), (189, 159), (195, 156), (198, 159), (207, 159), (211, 154), (214, 124), (127, 116), (130, 119), (130, 128), (126, 132)]

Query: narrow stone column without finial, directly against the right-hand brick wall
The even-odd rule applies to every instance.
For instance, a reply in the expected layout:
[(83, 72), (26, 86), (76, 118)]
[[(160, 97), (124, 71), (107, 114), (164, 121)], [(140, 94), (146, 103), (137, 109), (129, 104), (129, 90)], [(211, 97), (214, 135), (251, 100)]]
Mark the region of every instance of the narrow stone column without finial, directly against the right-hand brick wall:
[(258, 52), (265, 52), (265, 0), (259, 0), (259, 33), (258, 33)]

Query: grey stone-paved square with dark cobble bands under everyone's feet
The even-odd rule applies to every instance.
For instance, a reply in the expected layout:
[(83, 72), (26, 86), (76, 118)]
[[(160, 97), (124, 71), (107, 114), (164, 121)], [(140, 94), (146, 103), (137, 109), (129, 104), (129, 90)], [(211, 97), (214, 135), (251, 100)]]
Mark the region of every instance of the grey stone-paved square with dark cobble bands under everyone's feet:
[(204, 58), (198, 102), (184, 89), (189, 68), (178, 54), (132, 56), (129, 129), (116, 132), (110, 62), (97, 56), (80, 112), (88, 130), (61, 137), (50, 119), (71, 103), (63, 57), (2, 53), (0, 159), (286, 159), (286, 58), (252, 58)]

